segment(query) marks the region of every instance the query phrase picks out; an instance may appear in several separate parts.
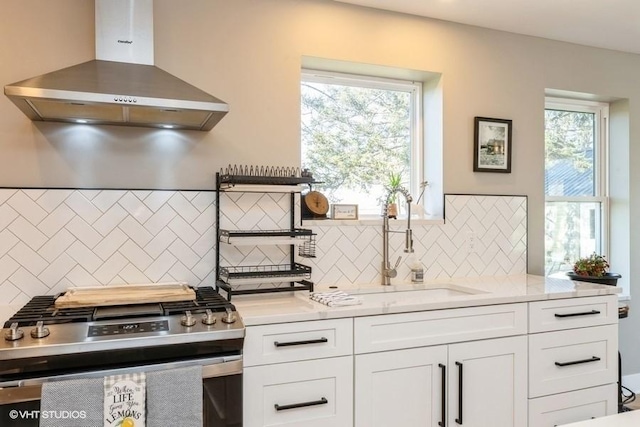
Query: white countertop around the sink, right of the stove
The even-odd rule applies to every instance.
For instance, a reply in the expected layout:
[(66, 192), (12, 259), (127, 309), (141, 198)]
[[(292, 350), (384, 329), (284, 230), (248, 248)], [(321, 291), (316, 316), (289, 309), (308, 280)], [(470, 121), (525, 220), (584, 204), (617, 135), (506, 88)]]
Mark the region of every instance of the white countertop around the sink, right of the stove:
[[(411, 292), (444, 288), (443, 292)], [(336, 289), (315, 286), (316, 292)], [(480, 305), (617, 294), (618, 287), (533, 275), (473, 277), (404, 283), (392, 286), (345, 285), (343, 290), (362, 300), (360, 305), (328, 307), (309, 299), (309, 292), (237, 295), (232, 298), (245, 325), (335, 319)], [(454, 296), (446, 289), (465, 291)], [(450, 293), (450, 292), (449, 292)]]

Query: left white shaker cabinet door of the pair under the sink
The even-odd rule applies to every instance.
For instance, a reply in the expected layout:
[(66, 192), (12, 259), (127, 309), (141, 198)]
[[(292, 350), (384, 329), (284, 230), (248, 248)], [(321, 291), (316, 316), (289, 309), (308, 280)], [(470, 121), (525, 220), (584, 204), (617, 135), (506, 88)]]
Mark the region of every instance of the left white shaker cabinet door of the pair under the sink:
[(447, 346), (356, 356), (356, 427), (438, 427), (446, 362)]

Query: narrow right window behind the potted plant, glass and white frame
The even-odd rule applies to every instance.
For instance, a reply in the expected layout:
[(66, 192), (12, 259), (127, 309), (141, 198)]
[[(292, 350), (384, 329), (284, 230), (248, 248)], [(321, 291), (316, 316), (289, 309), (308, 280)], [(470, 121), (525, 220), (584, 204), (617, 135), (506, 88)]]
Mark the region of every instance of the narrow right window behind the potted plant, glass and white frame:
[(547, 99), (545, 270), (608, 252), (608, 104)]

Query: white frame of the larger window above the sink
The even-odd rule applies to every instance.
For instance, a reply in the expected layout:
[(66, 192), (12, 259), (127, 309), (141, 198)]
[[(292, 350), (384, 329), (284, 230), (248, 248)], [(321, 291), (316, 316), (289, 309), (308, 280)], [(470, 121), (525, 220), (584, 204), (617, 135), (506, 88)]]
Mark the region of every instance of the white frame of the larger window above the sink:
[[(409, 92), (411, 94), (411, 112), (409, 115), (411, 126), (411, 156), (409, 159), (410, 183), (408, 190), (414, 197), (415, 203), (422, 191), (421, 185), (425, 181), (423, 178), (425, 176), (423, 82), (303, 68), (300, 74), (300, 85), (304, 82), (337, 84), (368, 89), (395, 90)], [(361, 219), (373, 219), (378, 217), (379, 215), (361, 215)]]

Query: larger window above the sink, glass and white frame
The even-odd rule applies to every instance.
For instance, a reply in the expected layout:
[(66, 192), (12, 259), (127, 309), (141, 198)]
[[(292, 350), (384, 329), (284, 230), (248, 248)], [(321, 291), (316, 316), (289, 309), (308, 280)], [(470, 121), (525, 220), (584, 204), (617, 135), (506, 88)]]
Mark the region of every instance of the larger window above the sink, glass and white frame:
[[(302, 165), (331, 203), (379, 217), (391, 173), (414, 198), (422, 181), (419, 83), (305, 70)], [(402, 204), (401, 204), (402, 207)]]

